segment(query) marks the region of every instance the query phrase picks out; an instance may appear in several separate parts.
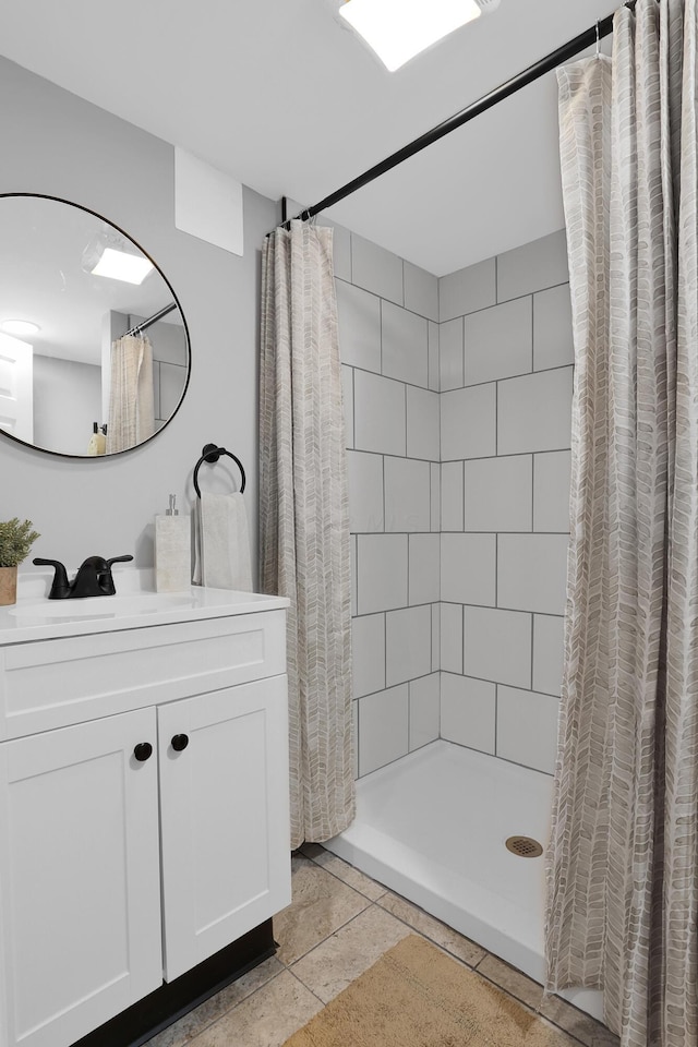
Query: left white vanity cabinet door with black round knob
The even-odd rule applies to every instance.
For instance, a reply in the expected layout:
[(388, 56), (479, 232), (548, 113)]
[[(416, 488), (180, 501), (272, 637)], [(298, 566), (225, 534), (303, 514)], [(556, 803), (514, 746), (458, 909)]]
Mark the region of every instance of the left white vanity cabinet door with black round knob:
[(64, 1047), (161, 984), (155, 745), (154, 709), (0, 745), (3, 1047)]

